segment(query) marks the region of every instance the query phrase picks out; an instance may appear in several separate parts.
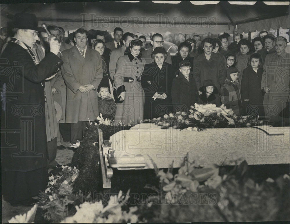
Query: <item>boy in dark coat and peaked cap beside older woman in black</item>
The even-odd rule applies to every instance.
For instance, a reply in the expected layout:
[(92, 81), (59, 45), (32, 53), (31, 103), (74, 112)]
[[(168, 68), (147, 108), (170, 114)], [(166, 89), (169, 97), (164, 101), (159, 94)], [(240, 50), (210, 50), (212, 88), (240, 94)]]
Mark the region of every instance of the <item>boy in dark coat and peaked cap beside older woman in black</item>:
[(198, 91), (188, 60), (179, 63), (179, 75), (173, 79), (171, 97), (175, 112), (188, 112), (191, 105), (198, 102)]

